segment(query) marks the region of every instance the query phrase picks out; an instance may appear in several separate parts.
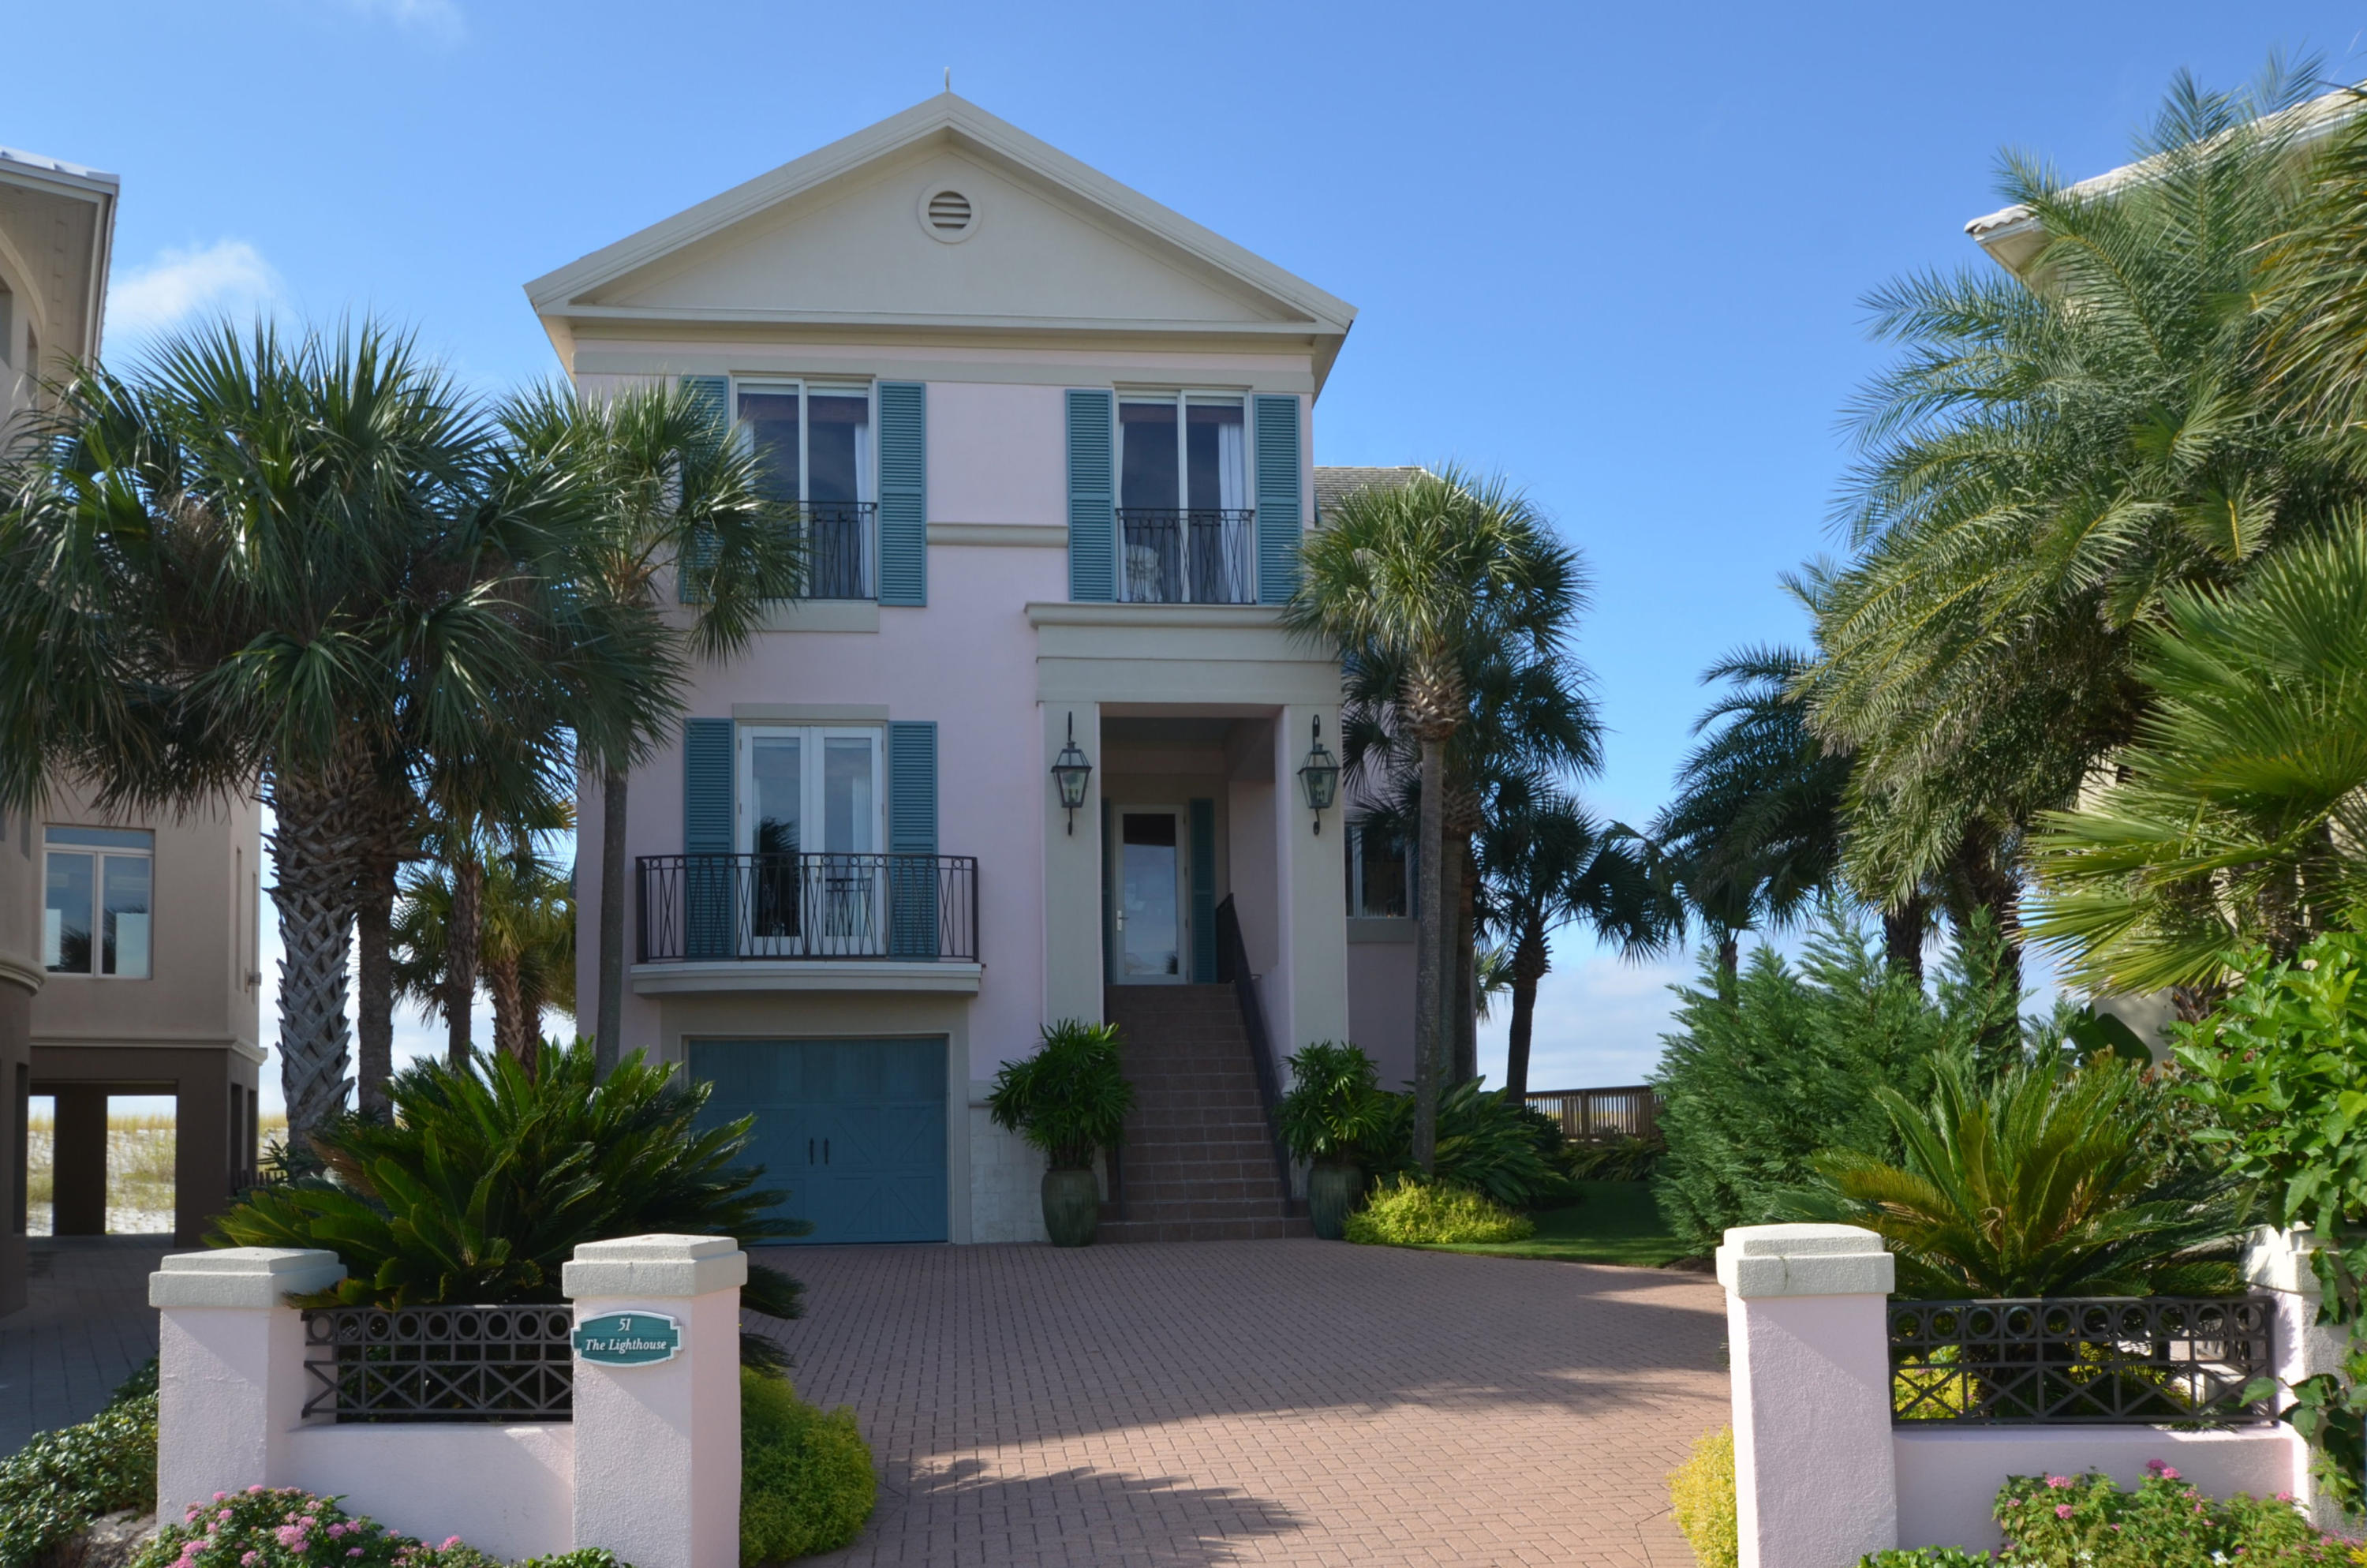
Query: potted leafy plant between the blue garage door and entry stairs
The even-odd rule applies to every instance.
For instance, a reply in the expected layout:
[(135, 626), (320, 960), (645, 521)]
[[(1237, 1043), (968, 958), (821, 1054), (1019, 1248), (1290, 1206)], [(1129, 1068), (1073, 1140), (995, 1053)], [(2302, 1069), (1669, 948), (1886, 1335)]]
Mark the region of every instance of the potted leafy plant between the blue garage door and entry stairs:
[(1112, 1149), (1134, 1108), (1134, 1085), (1117, 1066), (1117, 1026), (1063, 1018), (1044, 1026), (1044, 1049), (1006, 1061), (987, 1116), (1051, 1161), (1044, 1172), (1044, 1229), (1053, 1246), (1089, 1246), (1101, 1227), (1094, 1156)]

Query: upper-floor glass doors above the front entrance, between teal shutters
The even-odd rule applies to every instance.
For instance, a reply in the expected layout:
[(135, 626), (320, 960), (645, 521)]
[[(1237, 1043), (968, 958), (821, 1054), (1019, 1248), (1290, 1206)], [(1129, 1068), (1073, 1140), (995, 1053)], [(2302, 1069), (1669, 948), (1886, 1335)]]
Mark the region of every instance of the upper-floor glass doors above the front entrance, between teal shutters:
[(1120, 599), (1257, 599), (1247, 438), (1240, 393), (1117, 396)]

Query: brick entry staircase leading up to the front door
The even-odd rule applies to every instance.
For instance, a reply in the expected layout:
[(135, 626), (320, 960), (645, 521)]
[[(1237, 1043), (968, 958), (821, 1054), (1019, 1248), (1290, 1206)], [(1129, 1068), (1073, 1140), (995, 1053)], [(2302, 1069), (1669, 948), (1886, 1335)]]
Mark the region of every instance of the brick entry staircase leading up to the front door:
[(1307, 1203), (1273, 1170), (1250, 1033), (1231, 985), (1110, 985), (1134, 1113), (1117, 1206), (1101, 1241), (1266, 1241), (1314, 1236)]

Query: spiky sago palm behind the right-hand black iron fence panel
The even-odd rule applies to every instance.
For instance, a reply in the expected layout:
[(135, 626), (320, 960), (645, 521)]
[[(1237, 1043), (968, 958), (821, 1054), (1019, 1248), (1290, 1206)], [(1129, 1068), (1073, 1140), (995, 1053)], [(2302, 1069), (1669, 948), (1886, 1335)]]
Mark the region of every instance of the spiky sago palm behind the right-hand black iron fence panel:
[[(2218, 1175), (2175, 1172), (2147, 1137), (2137, 1068), (2116, 1056), (2073, 1068), (2062, 1056), (1988, 1085), (1955, 1061), (1931, 1101), (1889, 1087), (1905, 1158), (1815, 1161), (1825, 1196), (1799, 1217), (1877, 1232), (1898, 1258), (1898, 1293), (1953, 1296), (2211, 1296), (2237, 1284), (2227, 1244), (2251, 1194)], [(2211, 1255), (2211, 1251), (2220, 1255)]]

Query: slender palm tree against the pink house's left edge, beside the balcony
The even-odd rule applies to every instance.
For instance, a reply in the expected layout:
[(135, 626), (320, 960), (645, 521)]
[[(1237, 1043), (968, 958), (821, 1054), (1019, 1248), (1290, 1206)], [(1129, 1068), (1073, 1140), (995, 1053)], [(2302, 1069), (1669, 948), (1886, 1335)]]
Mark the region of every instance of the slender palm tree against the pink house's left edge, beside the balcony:
[[(570, 469), (599, 497), (606, 533), (592, 583), (613, 604), (653, 611), (667, 573), (689, 609), (684, 642), (696, 658), (724, 661), (748, 647), (765, 609), (805, 580), (793, 509), (769, 500), (757, 455), (731, 433), (724, 410), (682, 384), (580, 398), (544, 386), (502, 410), (511, 438)], [(582, 737), (601, 789), (599, 1004), (601, 1073), (618, 1063), (625, 1028), (625, 812), (632, 767), (670, 734), (679, 680), (663, 720)]]

